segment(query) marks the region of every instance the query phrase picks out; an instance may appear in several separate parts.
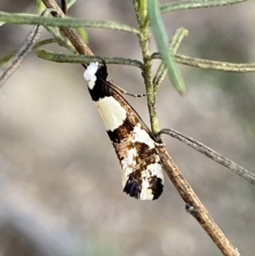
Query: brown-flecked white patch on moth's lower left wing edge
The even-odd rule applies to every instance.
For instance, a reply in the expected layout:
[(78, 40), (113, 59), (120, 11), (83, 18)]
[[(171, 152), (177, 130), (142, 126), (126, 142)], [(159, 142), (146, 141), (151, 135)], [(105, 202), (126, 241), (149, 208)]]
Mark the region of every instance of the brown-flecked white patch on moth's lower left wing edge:
[(124, 188), (127, 184), (127, 179), (130, 174), (133, 173), (133, 169), (137, 165), (135, 157), (138, 156), (136, 149), (130, 149), (127, 151), (127, 156), (122, 159), (122, 187)]

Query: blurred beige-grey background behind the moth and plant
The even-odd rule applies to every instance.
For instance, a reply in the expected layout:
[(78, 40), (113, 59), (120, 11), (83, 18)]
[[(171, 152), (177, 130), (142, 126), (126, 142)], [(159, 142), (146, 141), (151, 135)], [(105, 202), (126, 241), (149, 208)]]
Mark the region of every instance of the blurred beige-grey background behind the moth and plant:
[[(165, 1), (166, 3), (167, 1)], [(168, 1), (169, 2), (169, 1)], [(161, 1), (161, 3), (164, 3)], [(0, 9), (35, 14), (34, 1), (2, 0)], [(169, 37), (189, 30), (178, 54), (255, 62), (253, 1), (164, 14)], [(137, 27), (132, 1), (77, 1), (72, 17)], [(0, 27), (0, 57), (18, 49), (31, 26)], [(42, 39), (50, 35), (44, 31)], [(94, 54), (141, 60), (138, 39), (88, 29)], [(47, 47), (66, 52), (57, 45)], [(155, 43), (151, 43), (156, 51)], [(154, 72), (159, 61), (154, 62)], [(166, 78), (157, 98), (161, 128), (174, 128), (255, 172), (255, 74), (178, 65), (183, 97)], [(0, 255), (221, 255), (184, 211), (167, 179), (161, 197), (141, 202), (122, 192), (120, 166), (88, 95), (82, 65), (31, 53), (0, 94)], [(140, 71), (109, 66), (111, 78), (144, 93)], [(149, 124), (145, 99), (127, 99)], [(167, 149), (212, 218), (241, 255), (255, 253), (255, 187), (176, 139)]]

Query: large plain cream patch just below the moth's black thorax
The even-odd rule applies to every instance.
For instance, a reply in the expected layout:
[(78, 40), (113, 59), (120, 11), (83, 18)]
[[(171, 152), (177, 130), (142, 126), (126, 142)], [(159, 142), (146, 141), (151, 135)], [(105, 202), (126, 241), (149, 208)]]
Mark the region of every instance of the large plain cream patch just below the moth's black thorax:
[(107, 131), (119, 128), (127, 117), (126, 110), (112, 96), (99, 99), (95, 102)]

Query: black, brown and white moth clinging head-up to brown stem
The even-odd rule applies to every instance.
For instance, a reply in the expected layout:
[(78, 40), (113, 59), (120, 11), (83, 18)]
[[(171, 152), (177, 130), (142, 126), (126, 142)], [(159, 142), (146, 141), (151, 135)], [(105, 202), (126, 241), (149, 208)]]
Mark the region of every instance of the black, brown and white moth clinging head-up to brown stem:
[(88, 65), (84, 78), (99, 111), (122, 167), (122, 187), (129, 196), (155, 200), (163, 191), (161, 158), (150, 129), (133, 107), (122, 97), (122, 91), (107, 81), (106, 65)]

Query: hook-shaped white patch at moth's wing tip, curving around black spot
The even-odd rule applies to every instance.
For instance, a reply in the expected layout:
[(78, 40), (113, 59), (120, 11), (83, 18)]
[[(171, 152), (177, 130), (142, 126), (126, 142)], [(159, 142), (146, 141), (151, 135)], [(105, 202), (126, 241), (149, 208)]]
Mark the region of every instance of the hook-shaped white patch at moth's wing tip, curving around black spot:
[(162, 173), (162, 167), (160, 163), (151, 163), (147, 166), (146, 170), (142, 172), (142, 189), (140, 194), (140, 200), (153, 200), (154, 194), (150, 188), (150, 177), (156, 176), (158, 179), (164, 181)]

